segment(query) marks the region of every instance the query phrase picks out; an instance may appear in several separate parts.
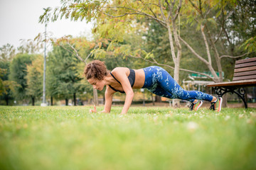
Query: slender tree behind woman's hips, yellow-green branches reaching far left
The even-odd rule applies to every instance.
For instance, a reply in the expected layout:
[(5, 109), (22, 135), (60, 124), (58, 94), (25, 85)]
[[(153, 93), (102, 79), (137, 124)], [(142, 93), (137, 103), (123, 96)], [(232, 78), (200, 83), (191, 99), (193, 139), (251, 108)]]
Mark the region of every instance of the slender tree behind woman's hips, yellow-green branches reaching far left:
[[(132, 28), (134, 15), (137, 18), (148, 18), (157, 21), (166, 28), (169, 35), (169, 45), (171, 48), (171, 57), (174, 60), (174, 79), (179, 78), (179, 63), (181, 60), (181, 44), (178, 39), (176, 28), (176, 19), (181, 9), (181, 0), (178, 2), (169, 1), (62, 1), (60, 8), (53, 10), (52, 21), (58, 17), (71, 18), (75, 21), (86, 19), (87, 21), (97, 20), (97, 30), (104, 38), (110, 38), (112, 43), (122, 42), (122, 35), (125, 30)], [(46, 15), (49, 15), (51, 9), (40, 17), (43, 22)], [(107, 17), (107, 18), (106, 18)], [(50, 17), (48, 17), (50, 18)], [(117, 19), (120, 18), (120, 19)], [(124, 21), (126, 23), (124, 23)], [(124, 29), (125, 28), (125, 29)], [(175, 42), (175, 43), (174, 43)], [(114, 45), (112, 45), (114, 47)], [(124, 46), (124, 51), (129, 52), (129, 47)], [(119, 50), (119, 48), (118, 48)], [(122, 52), (124, 52), (122, 51)], [(103, 54), (102, 50), (100, 50)], [(135, 54), (138, 52), (135, 52)], [(138, 55), (138, 54), (137, 54)], [(151, 55), (152, 56), (152, 55)], [(149, 55), (146, 55), (149, 57)]]

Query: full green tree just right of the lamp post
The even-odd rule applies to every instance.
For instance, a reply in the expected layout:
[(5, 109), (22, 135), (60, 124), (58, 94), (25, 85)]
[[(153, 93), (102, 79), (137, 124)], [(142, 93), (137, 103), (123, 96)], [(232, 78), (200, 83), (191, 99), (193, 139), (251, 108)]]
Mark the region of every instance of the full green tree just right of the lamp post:
[[(68, 45), (64, 45), (69, 48)], [(61, 62), (60, 62), (61, 61)], [(68, 50), (58, 45), (53, 45), (53, 51), (48, 56), (48, 88), (49, 93), (59, 98), (65, 98), (68, 105), (68, 98), (73, 96), (76, 105), (76, 94), (82, 90), (81, 78), (78, 73), (78, 59), (70, 55)]]

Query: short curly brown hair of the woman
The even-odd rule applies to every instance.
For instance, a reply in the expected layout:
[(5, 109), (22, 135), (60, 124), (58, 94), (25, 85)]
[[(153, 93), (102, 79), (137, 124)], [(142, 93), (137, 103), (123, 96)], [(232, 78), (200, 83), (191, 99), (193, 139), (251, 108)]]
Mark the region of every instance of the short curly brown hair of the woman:
[(108, 70), (105, 66), (105, 62), (94, 60), (85, 66), (85, 78), (86, 79), (98, 79), (102, 80), (108, 74)]

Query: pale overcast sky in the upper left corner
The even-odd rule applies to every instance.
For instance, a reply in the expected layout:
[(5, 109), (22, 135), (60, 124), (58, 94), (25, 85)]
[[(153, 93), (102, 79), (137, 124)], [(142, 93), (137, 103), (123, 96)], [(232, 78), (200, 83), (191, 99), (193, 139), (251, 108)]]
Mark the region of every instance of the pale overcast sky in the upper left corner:
[[(18, 47), (21, 39), (33, 39), (44, 33), (45, 25), (38, 23), (43, 8), (60, 6), (60, 0), (0, 0), (0, 47), (7, 43)], [(91, 36), (92, 23), (86, 21), (58, 20), (48, 23), (47, 32), (52, 37), (64, 35)]]

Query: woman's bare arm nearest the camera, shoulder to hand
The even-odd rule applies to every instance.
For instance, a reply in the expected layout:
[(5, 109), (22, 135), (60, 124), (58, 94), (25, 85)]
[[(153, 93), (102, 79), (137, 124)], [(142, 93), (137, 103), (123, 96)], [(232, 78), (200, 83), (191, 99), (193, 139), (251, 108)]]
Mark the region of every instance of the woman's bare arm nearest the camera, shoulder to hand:
[(122, 85), (122, 89), (124, 89), (126, 94), (124, 107), (122, 109), (121, 115), (127, 113), (127, 111), (129, 110), (129, 107), (132, 104), (132, 99), (134, 97), (134, 91), (132, 90), (132, 86), (129, 83), (127, 74), (125, 73), (126, 70), (127, 68), (118, 67), (112, 71), (112, 73), (114, 72), (114, 76), (117, 78), (117, 80), (120, 81)]

